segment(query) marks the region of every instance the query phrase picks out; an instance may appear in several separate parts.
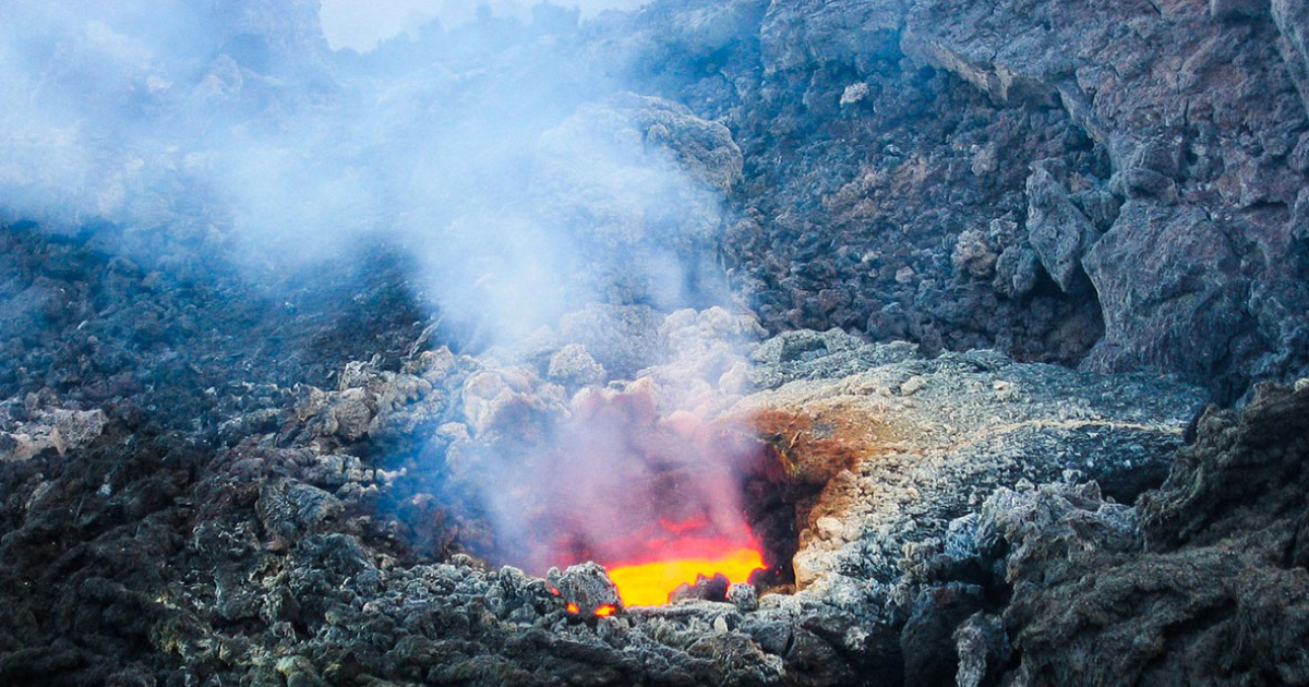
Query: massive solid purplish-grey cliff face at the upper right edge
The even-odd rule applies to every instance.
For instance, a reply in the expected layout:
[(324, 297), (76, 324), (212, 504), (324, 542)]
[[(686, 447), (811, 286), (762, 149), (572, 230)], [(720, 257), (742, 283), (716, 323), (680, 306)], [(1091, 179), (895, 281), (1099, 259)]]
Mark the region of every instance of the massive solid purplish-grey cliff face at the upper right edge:
[[(1254, 279), (1279, 293), (1272, 300), (1302, 298), (1283, 283), (1297, 263), (1282, 253), (1295, 230), (1288, 209), (1305, 183), (1287, 158), (1306, 126), (1304, 109), (1291, 103), (1302, 67), (1293, 47), (1287, 60), (1276, 55), (1266, 8), (1249, 5), (1105, 5), (1043, 27), (1030, 8), (1021, 18), (1005, 5), (983, 16), (965, 3), (920, 3), (910, 12), (916, 41), (1058, 93), (1069, 118), (1109, 153), (1109, 186), (1127, 205), (1088, 256), (1106, 323), (1089, 366), (1247, 376), (1268, 362), (1255, 351), (1297, 347), (1257, 325), (1267, 301), (1242, 285)], [(1279, 26), (1285, 34), (1287, 22)], [(1039, 207), (1030, 186), (1028, 195)], [(1030, 213), (1028, 220), (1031, 230)], [(1058, 268), (1051, 273), (1063, 284)]]

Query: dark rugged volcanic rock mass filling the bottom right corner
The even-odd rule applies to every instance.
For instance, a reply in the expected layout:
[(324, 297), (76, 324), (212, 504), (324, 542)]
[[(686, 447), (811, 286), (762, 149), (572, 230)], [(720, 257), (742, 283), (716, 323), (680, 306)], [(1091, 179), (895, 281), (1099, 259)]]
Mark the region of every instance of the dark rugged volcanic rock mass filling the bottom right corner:
[(1093, 484), (988, 500), (977, 546), (1012, 594), (1017, 679), (1309, 680), (1306, 419), (1309, 387), (1263, 387), (1240, 414), (1211, 410), (1135, 508)]

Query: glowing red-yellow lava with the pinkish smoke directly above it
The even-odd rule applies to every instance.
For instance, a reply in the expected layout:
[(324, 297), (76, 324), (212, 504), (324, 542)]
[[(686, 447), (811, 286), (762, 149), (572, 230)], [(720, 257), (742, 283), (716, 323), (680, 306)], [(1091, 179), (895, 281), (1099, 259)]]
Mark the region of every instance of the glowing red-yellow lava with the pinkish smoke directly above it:
[(657, 606), (700, 576), (745, 582), (767, 568), (742, 504), (742, 470), (761, 450), (753, 427), (660, 406), (649, 378), (624, 391), (586, 390), (548, 442), (525, 437), (525, 451), (505, 451), (517, 457), (514, 470), (497, 479), (512, 499), (496, 508), (522, 529), (514, 555), (529, 571), (593, 560), (622, 605)]

